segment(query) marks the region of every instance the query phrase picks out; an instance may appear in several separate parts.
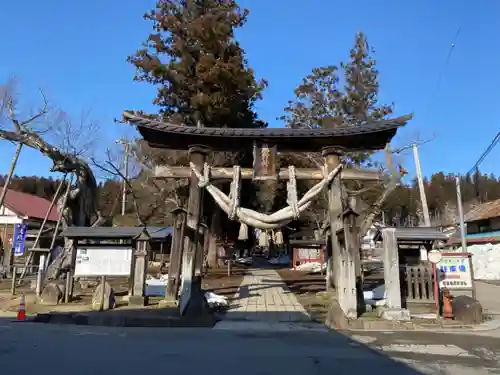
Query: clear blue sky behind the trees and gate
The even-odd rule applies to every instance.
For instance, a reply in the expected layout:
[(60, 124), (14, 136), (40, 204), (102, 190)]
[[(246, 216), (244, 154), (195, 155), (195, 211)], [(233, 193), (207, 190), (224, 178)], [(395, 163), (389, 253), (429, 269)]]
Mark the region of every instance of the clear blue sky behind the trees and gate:
[[(465, 173), (500, 129), (500, 2), (497, 0), (240, 0), (250, 9), (239, 39), (250, 65), (269, 81), (257, 110), (271, 126), (302, 77), (314, 67), (348, 56), (357, 31), (375, 47), (383, 102), (415, 118), (395, 138), (417, 137), (425, 175)], [(154, 110), (154, 88), (133, 81), (127, 55), (140, 47), (151, 25), (142, 19), (153, 0), (24, 0), (0, 8), (0, 81), (21, 80), (23, 102), (36, 103), (42, 87), (55, 104), (78, 118), (91, 108), (101, 147), (134, 133), (113, 123), (124, 109)], [(460, 35), (435, 94), (457, 29)], [(0, 173), (14, 147), (0, 143)], [(495, 149), (481, 170), (500, 175)], [(411, 155), (403, 156), (414, 173)], [(50, 163), (23, 152), (19, 175), (48, 174)]]

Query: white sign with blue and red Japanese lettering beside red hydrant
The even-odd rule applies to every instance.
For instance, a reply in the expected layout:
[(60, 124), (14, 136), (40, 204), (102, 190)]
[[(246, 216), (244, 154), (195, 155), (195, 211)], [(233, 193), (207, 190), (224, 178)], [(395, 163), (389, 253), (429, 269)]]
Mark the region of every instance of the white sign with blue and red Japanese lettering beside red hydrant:
[(453, 289), (471, 289), (472, 272), (468, 253), (443, 253), (436, 264), (439, 272), (439, 287)]

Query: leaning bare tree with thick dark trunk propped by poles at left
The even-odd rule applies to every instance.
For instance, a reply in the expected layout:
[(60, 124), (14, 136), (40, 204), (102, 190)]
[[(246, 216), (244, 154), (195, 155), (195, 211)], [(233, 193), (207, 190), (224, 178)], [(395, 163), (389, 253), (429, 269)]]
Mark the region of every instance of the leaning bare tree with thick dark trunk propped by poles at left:
[[(49, 107), (43, 91), (40, 91), (42, 105), (30, 111), (29, 115), (22, 116), (14, 85), (7, 82), (2, 87), (2, 108), (6, 115), (0, 127), (0, 138), (38, 150), (52, 160), (52, 172), (75, 176), (75, 183), (64, 207), (62, 202), (58, 202), (63, 229), (68, 226), (99, 225), (101, 217), (97, 210), (97, 182), (83, 156), (89, 151), (88, 140), (94, 139), (91, 134), (95, 134), (95, 126), (84, 121), (74, 124), (66, 113)], [(51, 136), (53, 142), (49, 141)], [(77, 142), (81, 143), (78, 145)], [(58, 276), (60, 269), (67, 264), (65, 260), (69, 259), (70, 249), (70, 244), (66, 244), (54, 275)]]

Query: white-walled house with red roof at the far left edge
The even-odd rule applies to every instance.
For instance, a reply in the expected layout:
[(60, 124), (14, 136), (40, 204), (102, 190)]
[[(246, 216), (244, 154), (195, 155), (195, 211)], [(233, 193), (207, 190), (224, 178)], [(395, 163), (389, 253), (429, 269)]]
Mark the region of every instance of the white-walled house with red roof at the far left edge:
[[(30, 237), (33, 237), (32, 240), (34, 240), (45, 215), (49, 211), (50, 204), (51, 202), (47, 199), (36, 195), (7, 190), (4, 203), (0, 206), (0, 255), (4, 255), (2, 264), (12, 263), (10, 252), (14, 226), (26, 224), (28, 229), (27, 242), (29, 242)], [(59, 211), (57, 207), (53, 207), (47, 217), (46, 228), (53, 228), (58, 218)]]

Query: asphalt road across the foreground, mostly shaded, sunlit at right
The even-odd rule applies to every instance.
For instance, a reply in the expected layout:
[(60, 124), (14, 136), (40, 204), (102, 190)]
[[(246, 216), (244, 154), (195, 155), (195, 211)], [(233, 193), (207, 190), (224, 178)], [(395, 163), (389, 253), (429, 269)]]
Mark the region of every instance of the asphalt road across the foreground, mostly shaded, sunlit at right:
[(363, 333), (351, 339), (331, 332), (110, 328), (5, 320), (0, 321), (0, 369), (5, 374), (37, 375), (480, 375), (499, 373), (490, 370), (500, 369), (499, 343), (500, 339), (459, 335)]

